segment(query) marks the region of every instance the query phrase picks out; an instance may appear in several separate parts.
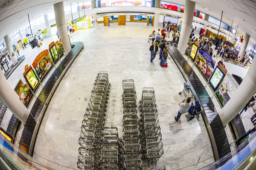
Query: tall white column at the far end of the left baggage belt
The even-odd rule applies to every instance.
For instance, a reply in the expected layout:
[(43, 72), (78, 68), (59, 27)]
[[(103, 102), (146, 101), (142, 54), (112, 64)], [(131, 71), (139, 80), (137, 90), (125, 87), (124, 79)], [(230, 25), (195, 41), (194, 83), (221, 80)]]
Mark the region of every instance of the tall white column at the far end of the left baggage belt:
[(67, 55), (72, 48), (71, 48), (70, 40), (67, 34), (63, 2), (55, 3), (53, 5), (53, 8), (55, 13), (55, 21), (56, 21), (58, 35), (59, 35), (59, 38), (62, 40), (65, 54)]

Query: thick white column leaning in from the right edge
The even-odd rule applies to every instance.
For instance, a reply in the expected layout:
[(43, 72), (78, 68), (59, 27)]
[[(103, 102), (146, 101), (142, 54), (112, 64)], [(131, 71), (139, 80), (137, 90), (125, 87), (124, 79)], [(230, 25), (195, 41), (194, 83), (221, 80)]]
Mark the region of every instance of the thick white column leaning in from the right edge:
[(250, 66), (241, 85), (227, 104), (218, 113), (223, 126), (226, 126), (249, 102), (256, 92), (256, 59)]

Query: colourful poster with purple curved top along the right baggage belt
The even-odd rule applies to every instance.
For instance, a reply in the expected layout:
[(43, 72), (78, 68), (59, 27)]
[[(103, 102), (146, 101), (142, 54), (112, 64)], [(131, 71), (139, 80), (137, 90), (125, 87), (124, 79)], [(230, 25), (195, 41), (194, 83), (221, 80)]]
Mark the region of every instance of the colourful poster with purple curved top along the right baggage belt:
[(214, 62), (212, 60), (212, 57), (205, 51), (199, 51), (195, 63), (200, 68), (205, 77), (209, 79), (214, 70)]

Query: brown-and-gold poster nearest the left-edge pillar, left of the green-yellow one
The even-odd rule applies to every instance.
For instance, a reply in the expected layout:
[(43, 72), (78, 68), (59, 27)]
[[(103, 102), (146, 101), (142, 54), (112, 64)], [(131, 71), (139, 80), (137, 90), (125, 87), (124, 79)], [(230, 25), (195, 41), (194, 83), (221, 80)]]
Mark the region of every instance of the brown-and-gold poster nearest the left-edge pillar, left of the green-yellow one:
[(20, 101), (26, 106), (32, 96), (32, 92), (30, 91), (28, 85), (24, 84), (20, 79), (16, 87), (14, 88), (14, 91), (19, 96)]

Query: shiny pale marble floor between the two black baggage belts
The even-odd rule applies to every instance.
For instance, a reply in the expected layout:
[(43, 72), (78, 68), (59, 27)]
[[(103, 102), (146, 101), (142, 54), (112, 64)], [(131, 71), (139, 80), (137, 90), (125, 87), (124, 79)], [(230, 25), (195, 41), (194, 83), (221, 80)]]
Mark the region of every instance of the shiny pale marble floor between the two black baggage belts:
[(122, 80), (134, 79), (137, 102), (143, 87), (155, 88), (164, 155), (159, 165), (168, 170), (199, 169), (214, 161), (202, 117), (175, 122), (178, 93), (185, 81), (171, 58), (160, 68), (158, 57), (150, 64), (148, 35), (153, 28), (117, 27), (76, 31), (72, 41), (84, 42), (53, 95), (44, 115), (33, 157), (56, 169), (76, 169), (81, 122), (98, 71), (108, 71), (111, 92), (106, 126), (116, 126), (122, 136)]

